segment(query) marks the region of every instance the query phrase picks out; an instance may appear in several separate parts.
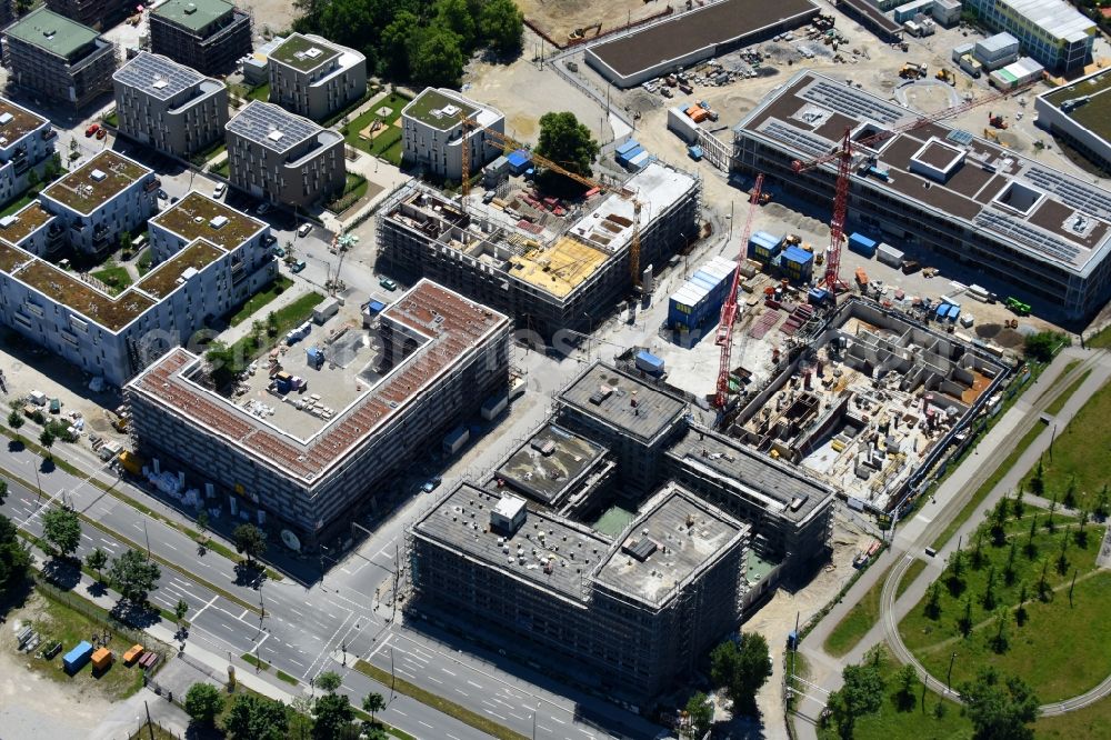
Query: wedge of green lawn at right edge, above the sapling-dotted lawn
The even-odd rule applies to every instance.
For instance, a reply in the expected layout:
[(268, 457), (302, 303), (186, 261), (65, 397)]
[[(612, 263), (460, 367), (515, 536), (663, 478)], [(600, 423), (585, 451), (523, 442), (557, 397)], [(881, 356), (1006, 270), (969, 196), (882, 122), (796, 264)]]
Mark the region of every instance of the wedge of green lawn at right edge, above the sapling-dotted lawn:
[[(1063, 429), (1057, 430), (1052, 454), (1042, 456), (1045, 497), (1062, 498), (1075, 480), (1077, 503), (1092, 506), (1104, 484), (1111, 482), (1111, 386), (1103, 386)], [(1030, 490), (1030, 476), (1023, 481)]]

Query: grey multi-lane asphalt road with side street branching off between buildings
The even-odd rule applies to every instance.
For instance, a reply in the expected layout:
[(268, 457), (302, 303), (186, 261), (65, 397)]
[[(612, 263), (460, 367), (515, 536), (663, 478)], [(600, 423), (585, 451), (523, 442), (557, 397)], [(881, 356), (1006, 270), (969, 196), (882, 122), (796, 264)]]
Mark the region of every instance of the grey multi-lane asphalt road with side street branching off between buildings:
[[(503, 422), (504, 428), (497, 430), (499, 436), (517, 437), (539, 423), (547, 413), (544, 399), (580, 368), (574, 360), (556, 364), (537, 352), (528, 352), (519, 359), (520, 364), (530, 370), (534, 400), (527, 412), (514, 413)], [(489, 469), (504, 451), (498, 444), (473, 447), (474, 454), (462, 458), (446, 471), (446, 487), (461, 477)], [(57, 450), (59, 456), (69, 457), (67, 452), (67, 447)], [(81, 454), (71, 460), (91, 468), (87, 458)], [(40, 463), (27, 451), (4, 448), (0, 452), (0, 467), (31, 483)], [(103, 471), (99, 472), (102, 478), (111, 479)], [(11, 482), (3, 512), (38, 534), (41, 511), (49, 500), (67, 501), (102, 528), (83, 524), (78, 552), (81, 557), (96, 547), (110, 556), (128, 547), (144, 549), (149, 541), (151, 553), (171, 564), (162, 566), (162, 578), (151, 600), (171, 611), (179, 599), (184, 600), (190, 608), (188, 643), (197, 643), (211, 653), (228, 654), (239, 661), (240, 656), (252, 652), (306, 683), (322, 671), (338, 671), (343, 677), (343, 690), (350, 693), (354, 703), (360, 703), (361, 698), (372, 691), (390, 696), (388, 687), (351, 670), (354, 658), (364, 657), (386, 670), (390, 669), (392, 660), (399, 677), (526, 737), (532, 737), (533, 724), (538, 738), (610, 737), (577, 719), (583, 714), (614, 728), (618, 732), (614, 737), (651, 738), (662, 733), (658, 726), (603, 700), (553, 684), (528, 668), (504, 663), (497, 657), (483, 659), (469, 644), (438, 641), (407, 628), (396, 619), (389, 603), (376, 601), (379, 589), (383, 598), (391, 590), (394, 553), (403, 544), (404, 527), (430, 506), (431, 497), (414, 498), (379, 522), (373, 536), (357, 552), (341, 562), (326, 563), (330, 568), (322, 582), (306, 588), (292, 579), (266, 580), (256, 587), (237, 582), (234, 564), (228, 559), (213, 551), (200, 556), (197, 544), (182, 532), (61, 469), (40, 471), (39, 484), (43, 490), (41, 500), (33, 490)], [(139, 489), (126, 482), (120, 487), (131, 498), (177, 517)], [(246, 603), (258, 604), (258, 610), (247, 609), (207, 584)], [(262, 610), (264, 617), (259, 613)], [(213, 668), (223, 670), (226, 666)], [(240, 663), (240, 670), (250, 669)], [(530, 677), (544, 688), (522, 677)], [(403, 696), (394, 696), (384, 718), (419, 738), (469, 740), (483, 737), (469, 726)]]

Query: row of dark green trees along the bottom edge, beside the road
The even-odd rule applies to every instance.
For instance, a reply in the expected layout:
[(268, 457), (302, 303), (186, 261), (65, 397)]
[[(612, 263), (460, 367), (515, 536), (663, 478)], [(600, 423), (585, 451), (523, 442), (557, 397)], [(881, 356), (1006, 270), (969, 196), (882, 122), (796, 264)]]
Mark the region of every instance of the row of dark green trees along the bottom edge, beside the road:
[[(316, 680), (317, 688), (323, 693), (312, 699), (297, 699), (291, 706), (254, 694), (241, 694), (232, 702), (222, 721), (223, 731), (229, 740), (284, 740), (288, 737), (304, 737), (306, 733), (311, 733), (314, 740), (359, 737), (386, 740), (386, 730), (374, 718), (386, 709), (382, 694), (370, 693), (363, 698), (362, 709), (370, 714), (370, 720), (360, 727), (356, 723), (356, 710), (350, 699), (338, 693), (340, 683), (338, 673), (326, 671)], [(186, 712), (199, 729), (216, 727), (224, 706), (223, 693), (210, 683), (194, 683), (186, 693)]]

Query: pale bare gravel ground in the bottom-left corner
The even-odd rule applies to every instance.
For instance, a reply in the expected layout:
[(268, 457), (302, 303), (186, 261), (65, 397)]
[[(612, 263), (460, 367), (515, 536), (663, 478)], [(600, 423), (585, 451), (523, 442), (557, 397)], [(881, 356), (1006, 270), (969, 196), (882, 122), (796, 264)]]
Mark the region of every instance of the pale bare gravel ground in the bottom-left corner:
[[(16, 633), (42, 616), (42, 597), (9, 612), (0, 624), (0, 728), (3, 740), (83, 738), (112, 708), (92, 684), (51, 681), (30, 670), (17, 651)], [(66, 711), (59, 708), (64, 707)]]

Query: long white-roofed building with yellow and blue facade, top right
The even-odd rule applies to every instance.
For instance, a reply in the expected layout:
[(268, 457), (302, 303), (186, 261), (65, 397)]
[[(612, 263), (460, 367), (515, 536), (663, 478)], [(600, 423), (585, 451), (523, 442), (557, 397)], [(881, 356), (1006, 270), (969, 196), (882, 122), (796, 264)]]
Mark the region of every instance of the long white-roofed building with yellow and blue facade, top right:
[(964, 0), (964, 9), (1013, 36), (1023, 54), (1052, 72), (1073, 72), (1092, 61), (1099, 29), (1064, 0)]

